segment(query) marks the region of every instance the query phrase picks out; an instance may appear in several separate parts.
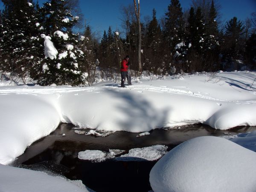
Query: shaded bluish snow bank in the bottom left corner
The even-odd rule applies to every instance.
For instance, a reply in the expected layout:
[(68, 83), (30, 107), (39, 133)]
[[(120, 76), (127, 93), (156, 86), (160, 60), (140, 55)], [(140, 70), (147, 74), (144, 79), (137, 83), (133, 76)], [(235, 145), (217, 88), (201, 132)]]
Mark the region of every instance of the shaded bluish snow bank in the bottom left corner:
[(85, 186), (76, 186), (75, 181), (49, 176), (44, 172), (20, 169), (0, 164), (1, 192), (89, 192)]

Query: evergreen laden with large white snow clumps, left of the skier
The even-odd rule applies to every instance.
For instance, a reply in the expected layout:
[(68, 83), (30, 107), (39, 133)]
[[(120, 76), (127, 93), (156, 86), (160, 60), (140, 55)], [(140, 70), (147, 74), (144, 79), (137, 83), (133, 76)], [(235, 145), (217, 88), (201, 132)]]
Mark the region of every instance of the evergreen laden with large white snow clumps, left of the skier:
[(78, 17), (73, 17), (65, 0), (44, 3), (40, 13), (44, 32), (41, 37), (44, 43), (51, 40), (58, 54), (54, 57), (46, 55), (34, 68), (35, 78), (43, 85), (79, 85), (84, 73), (84, 53), (77, 47), (78, 36), (72, 33)]

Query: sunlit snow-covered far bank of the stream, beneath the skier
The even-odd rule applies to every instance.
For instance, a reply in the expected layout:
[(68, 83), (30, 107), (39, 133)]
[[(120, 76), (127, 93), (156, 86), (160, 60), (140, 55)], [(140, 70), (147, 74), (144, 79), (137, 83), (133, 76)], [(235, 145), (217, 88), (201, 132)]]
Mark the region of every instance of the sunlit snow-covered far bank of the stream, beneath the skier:
[[(127, 88), (111, 82), (93, 87), (2, 86), (0, 163), (11, 163), (60, 122), (138, 133), (192, 123), (213, 129), (256, 126), (255, 78), (255, 72), (244, 71), (142, 77)], [(2, 176), (7, 168), (1, 167)]]

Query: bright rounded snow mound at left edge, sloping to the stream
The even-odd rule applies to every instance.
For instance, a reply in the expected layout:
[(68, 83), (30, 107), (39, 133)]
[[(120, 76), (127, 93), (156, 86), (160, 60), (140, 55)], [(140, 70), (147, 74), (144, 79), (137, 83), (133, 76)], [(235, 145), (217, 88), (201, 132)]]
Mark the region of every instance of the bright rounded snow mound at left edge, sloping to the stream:
[(26, 146), (49, 135), (60, 122), (52, 103), (28, 94), (1, 95), (0, 163), (11, 163)]

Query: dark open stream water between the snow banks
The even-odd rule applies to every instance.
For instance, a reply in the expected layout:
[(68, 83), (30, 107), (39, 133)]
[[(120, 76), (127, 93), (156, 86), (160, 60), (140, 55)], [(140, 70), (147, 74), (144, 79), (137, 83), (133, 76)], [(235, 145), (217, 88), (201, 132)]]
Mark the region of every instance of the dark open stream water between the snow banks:
[[(84, 150), (142, 148), (152, 145), (166, 145), (168, 150), (178, 144), (199, 136), (237, 135), (251, 132), (256, 127), (237, 127), (230, 130), (216, 130), (196, 124), (180, 129), (152, 130), (150, 135), (137, 138), (138, 133), (114, 132), (106, 137), (79, 135), (72, 124), (60, 124), (58, 128), (41, 140), (29, 146), (17, 158), (13, 166), (64, 175), (70, 180), (81, 180), (96, 192), (148, 192), (151, 190), (149, 172), (157, 161), (106, 160), (93, 163), (80, 160), (78, 153)], [(63, 136), (65, 134), (65, 136)]]

